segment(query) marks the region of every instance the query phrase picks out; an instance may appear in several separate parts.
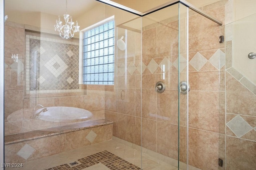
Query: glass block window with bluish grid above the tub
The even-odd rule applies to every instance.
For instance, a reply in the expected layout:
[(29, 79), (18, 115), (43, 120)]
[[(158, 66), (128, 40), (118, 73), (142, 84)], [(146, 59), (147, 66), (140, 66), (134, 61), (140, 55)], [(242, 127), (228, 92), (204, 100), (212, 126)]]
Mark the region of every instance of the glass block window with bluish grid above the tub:
[(83, 84), (114, 84), (114, 20), (83, 33)]

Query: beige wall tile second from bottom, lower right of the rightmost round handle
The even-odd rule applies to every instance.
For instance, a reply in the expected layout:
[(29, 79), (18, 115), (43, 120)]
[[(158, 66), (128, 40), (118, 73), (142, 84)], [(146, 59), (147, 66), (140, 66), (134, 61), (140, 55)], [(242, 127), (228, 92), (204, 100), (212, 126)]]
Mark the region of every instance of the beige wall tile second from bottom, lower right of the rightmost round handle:
[(190, 91), (189, 127), (219, 133), (220, 92)]

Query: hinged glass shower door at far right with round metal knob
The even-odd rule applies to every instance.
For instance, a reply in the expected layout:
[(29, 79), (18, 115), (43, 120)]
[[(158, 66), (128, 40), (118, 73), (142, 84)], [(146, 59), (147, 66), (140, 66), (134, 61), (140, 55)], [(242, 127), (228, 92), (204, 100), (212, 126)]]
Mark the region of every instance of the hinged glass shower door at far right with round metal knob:
[(220, 123), (226, 143), (223, 135), (220, 138), (225, 144), (221, 149), (226, 170), (256, 167), (255, 29), (256, 14), (222, 27), (226, 37), (226, 121)]

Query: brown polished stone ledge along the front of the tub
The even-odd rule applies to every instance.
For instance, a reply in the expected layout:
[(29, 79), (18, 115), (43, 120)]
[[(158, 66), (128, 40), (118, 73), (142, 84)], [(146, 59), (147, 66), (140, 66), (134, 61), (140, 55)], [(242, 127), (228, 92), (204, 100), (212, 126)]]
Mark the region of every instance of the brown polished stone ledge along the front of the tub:
[(30, 140), (34, 140), (34, 139), (40, 139), (43, 137), (60, 135), (63, 133), (70, 133), (70, 132), (74, 132), (74, 131), (80, 131), (83, 129), (90, 129), (93, 127), (109, 125), (112, 123), (113, 123), (113, 121), (110, 121), (108, 119), (99, 119), (99, 120), (94, 120), (94, 121), (75, 123), (72, 125), (64, 125), (64, 126), (60, 126), (60, 127), (52, 127), (52, 128), (42, 129), (42, 130), (37, 130), (37, 131), (30, 131), (30, 132), (18, 133), (18, 134), (13, 134), (13, 135), (6, 135), (4, 137), (4, 144), (10, 145), (13, 143), (30, 141)]

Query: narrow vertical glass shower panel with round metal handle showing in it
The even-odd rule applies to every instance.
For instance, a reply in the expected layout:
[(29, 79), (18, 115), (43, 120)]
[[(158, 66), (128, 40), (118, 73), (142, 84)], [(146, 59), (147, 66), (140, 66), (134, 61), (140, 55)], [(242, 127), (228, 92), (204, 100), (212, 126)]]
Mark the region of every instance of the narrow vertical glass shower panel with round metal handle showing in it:
[(188, 7), (181, 3), (178, 21), (178, 167), (188, 169)]

